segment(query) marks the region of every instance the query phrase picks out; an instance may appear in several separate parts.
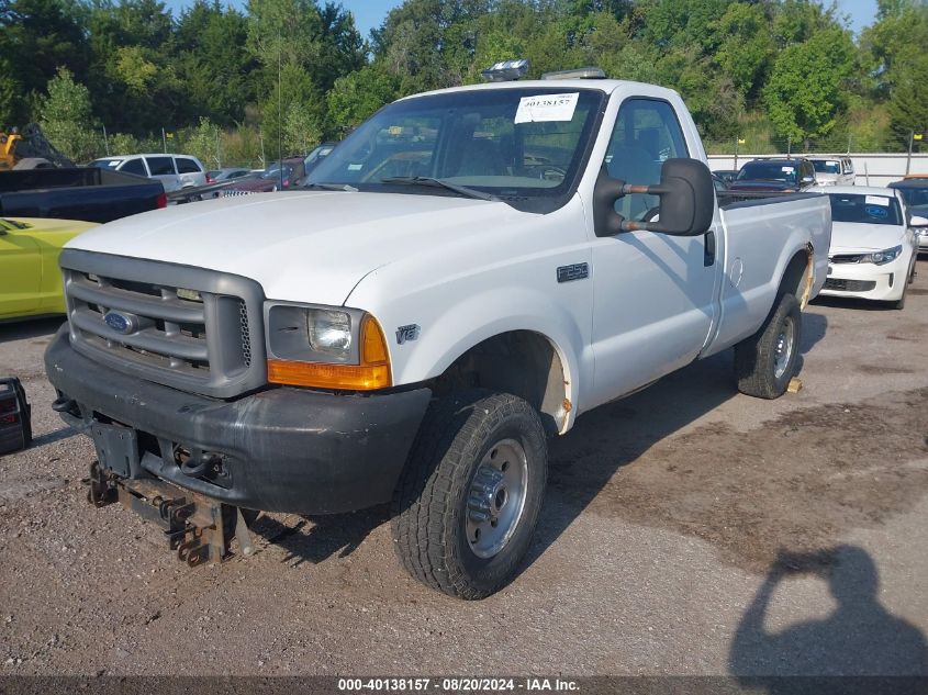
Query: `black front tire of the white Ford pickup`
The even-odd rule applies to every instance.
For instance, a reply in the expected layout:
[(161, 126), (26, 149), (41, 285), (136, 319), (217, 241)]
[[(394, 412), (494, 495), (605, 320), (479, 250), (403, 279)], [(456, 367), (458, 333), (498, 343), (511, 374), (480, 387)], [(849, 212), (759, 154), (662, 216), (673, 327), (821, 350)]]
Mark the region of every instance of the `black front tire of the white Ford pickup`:
[[(525, 455), (524, 503), (502, 548), (481, 558), (467, 535), (472, 485), (488, 457), (511, 446), (505, 441), (518, 442)], [(449, 596), (478, 599), (499, 591), (515, 576), (532, 542), (547, 473), (541, 421), (522, 399), (474, 389), (434, 401), (393, 497), (393, 540), (403, 567)]]

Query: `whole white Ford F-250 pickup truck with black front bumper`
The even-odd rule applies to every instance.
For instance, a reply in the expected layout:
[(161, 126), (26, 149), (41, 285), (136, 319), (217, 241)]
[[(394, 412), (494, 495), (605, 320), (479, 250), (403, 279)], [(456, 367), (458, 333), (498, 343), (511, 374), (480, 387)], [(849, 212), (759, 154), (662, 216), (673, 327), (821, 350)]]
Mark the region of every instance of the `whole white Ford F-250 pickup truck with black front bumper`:
[(247, 553), (243, 508), (392, 501), (406, 569), (487, 596), (529, 546), (548, 436), (733, 346), (738, 388), (780, 396), (828, 270), (826, 197), (719, 209), (681, 98), (635, 82), (402, 99), (306, 186), (60, 257), (45, 361), (97, 446), (91, 500), (144, 511), (191, 564), (233, 531)]

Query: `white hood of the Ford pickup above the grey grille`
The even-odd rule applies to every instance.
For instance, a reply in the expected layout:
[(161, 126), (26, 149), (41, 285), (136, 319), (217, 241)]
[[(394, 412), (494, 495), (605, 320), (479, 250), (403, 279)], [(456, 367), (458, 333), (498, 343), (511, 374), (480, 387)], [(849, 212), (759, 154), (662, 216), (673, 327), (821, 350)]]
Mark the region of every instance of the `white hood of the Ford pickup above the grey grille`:
[(497, 234), (523, 213), (446, 195), (282, 192), (118, 220), (67, 247), (256, 280), (268, 299), (339, 305), (369, 272), (425, 246)]

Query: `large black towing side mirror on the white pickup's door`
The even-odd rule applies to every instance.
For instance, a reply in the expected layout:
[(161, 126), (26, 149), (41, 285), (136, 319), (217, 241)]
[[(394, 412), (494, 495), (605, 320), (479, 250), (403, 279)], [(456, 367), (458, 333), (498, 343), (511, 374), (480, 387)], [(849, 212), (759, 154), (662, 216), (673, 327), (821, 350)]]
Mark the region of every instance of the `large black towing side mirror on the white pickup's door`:
[[(615, 211), (615, 201), (631, 193), (660, 197), (657, 222), (626, 220)], [(634, 186), (613, 179), (603, 167), (593, 190), (596, 236), (644, 229), (672, 236), (698, 236), (712, 226), (715, 190), (712, 172), (698, 159), (668, 159), (657, 186)]]

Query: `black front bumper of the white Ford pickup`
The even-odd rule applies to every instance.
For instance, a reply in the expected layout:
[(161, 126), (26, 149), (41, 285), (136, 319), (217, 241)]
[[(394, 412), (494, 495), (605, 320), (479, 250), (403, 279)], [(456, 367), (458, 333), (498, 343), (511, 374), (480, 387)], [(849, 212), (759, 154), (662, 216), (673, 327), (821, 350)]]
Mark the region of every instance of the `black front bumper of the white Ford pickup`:
[[(267, 512), (334, 514), (389, 501), (431, 399), (428, 389), (362, 396), (289, 388), (208, 399), (83, 357), (67, 326), (48, 346), (45, 369), (80, 412), (64, 419), (93, 437), (98, 453), (113, 442), (101, 440), (105, 425), (128, 428), (138, 453), (133, 478)], [(190, 475), (177, 451), (215, 453), (220, 463)]]

